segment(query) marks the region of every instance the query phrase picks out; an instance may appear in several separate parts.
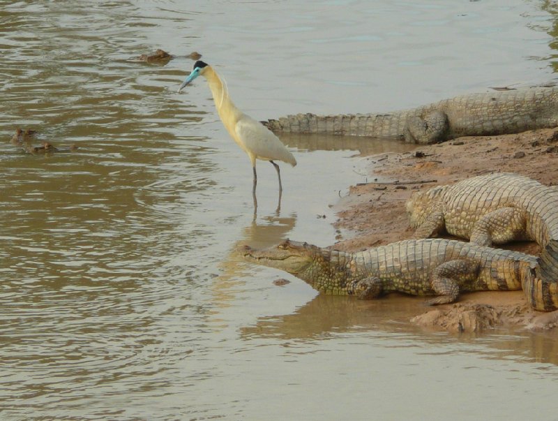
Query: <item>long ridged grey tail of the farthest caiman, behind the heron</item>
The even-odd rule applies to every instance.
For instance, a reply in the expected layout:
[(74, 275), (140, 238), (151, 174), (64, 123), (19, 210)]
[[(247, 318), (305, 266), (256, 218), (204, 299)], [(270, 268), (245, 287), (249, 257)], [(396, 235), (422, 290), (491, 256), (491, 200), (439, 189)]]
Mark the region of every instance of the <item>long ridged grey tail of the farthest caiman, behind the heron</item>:
[(330, 133), (336, 135), (404, 138), (407, 113), (386, 115), (288, 115), (261, 123), (275, 133)]

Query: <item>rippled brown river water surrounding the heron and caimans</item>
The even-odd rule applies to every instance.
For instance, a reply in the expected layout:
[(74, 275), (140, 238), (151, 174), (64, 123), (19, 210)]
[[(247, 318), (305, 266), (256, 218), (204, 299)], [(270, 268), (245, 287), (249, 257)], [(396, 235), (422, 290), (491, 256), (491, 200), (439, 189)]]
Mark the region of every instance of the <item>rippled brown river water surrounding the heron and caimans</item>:
[[(194, 50), (257, 119), (548, 82), (554, 7), (1, 2), (0, 419), (558, 419), (557, 334), (423, 332), (420, 299), (317, 296), (235, 256), (349, 235), (331, 205), (365, 181), (362, 154), (406, 145), (285, 138), (299, 165), (278, 209), (259, 163), (254, 214), (203, 78), (176, 94)], [(159, 47), (176, 59), (137, 60)], [(79, 149), (24, 154), (18, 126)]]

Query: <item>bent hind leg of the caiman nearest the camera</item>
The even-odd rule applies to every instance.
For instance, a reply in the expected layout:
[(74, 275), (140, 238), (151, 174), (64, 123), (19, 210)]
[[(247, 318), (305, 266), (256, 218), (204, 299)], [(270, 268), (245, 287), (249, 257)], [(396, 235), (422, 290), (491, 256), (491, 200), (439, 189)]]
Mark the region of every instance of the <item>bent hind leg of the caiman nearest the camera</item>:
[(473, 260), (457, 259), (448, 260), (432, 271), (430, 281), (436, 298), (428, 300), (426, 305), (448, 304), (457, 300), (459, 286), (467, 281), (472, 281), (478, 276), (480, 265)]

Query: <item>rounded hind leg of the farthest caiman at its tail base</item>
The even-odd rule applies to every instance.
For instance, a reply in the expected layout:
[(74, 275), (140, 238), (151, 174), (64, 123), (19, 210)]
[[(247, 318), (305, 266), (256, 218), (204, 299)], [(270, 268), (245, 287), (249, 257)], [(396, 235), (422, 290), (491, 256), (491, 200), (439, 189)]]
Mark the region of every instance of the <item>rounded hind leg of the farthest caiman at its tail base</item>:
[(409, 117), (405, 126), (405, 141), (409, 143), (437, 143), (446, 140), (448, 116), (442, 111), (432, 111), (424, 117)]

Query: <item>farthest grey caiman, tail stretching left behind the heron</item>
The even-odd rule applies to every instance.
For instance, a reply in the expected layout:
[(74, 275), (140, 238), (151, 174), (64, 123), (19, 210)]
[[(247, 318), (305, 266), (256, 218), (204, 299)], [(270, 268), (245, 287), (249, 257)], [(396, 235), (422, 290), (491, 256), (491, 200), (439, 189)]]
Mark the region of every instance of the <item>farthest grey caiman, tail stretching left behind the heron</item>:
[(262, 121), (271, 131), (331, 133), (436, 143), (558, 126), (558, 87), (465, 94), (388, 114), (288, 115)]

